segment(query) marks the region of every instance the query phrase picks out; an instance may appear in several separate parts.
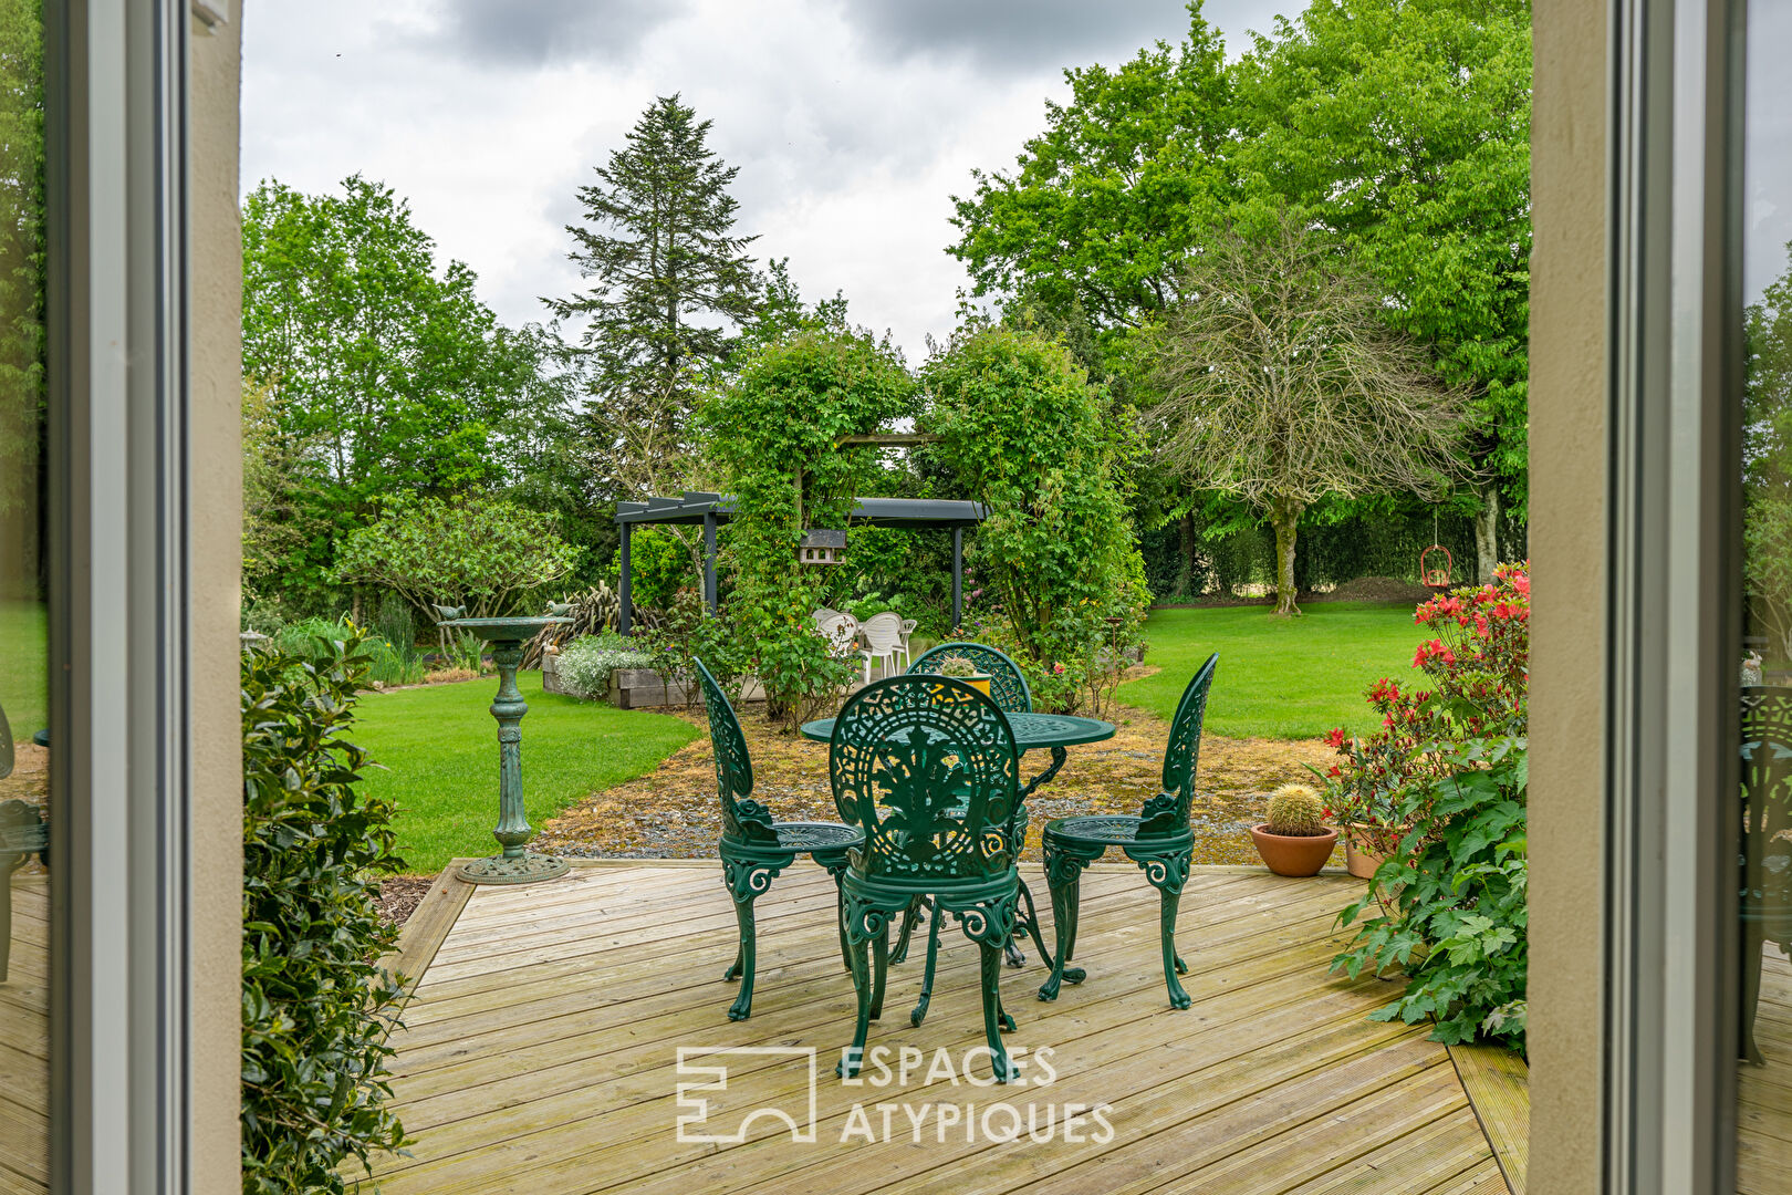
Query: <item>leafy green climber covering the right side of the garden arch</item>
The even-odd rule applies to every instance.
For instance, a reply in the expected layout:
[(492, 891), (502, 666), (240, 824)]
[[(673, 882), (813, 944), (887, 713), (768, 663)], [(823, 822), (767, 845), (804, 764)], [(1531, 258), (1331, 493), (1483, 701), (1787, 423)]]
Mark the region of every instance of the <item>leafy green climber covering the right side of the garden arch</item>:
[(1018, 659), (1079, 666), (1109, 618), (1136, 627), (1145, 607), (1127, 511), (1131, 419), (1109, 417), (1070, 353), (1030, 331), (961, 335), (925, 380), (934, 405), (921, 426), (944, 437), (935, 453), (989, 511), (973, 563)]

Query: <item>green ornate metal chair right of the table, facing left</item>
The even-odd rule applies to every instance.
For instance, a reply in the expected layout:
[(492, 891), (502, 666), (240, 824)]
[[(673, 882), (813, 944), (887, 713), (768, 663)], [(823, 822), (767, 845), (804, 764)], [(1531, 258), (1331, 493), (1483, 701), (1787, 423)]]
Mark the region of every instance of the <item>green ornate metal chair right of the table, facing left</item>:
[(1170, 989), (1170, 1007), (1186, 1009), (1188, 993), (1177, 975), (1188, 966), (1176, 953), (1176, 907), (1188, 880), (1188, 860), (1195, 835), (1188, 830), (1188, 810), (1195, 799), (1195, 765), (1201, 760), (1201, 718), (1208, 708), (1208, 690), (1219, 652), (1208, 656), (1195, 679), (1183, 690), (1170, 724), (1170, 745), (1163, 752), (1163, 790), (1145, 801), (1138, 817), (1127, 813), (1091, 817), (1054, 817), (1045, 824), (1045, 878), (1052, 885), (1052, 921), (1057, 951), (1052, 975), (1039, 985), (1039, 1000), (1057, 1000), (1059, 984), (1081, 984), (1082, 967), (1066, 967), (1077, 950), (1077, 907), (1082, 869), (1120, 847), (1145, 871), (1159, 894), (1158, 935), (1163, 942), (1163, 984)]

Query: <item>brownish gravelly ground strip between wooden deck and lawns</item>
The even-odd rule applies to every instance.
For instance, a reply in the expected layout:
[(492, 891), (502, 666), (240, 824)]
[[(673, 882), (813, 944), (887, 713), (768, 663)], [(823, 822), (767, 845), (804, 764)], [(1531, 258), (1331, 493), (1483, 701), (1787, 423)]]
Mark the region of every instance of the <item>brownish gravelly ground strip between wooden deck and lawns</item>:
[[(543, 826), (530, 844), (586, 858), (715, 858), (722, 831), (715, 795), (715, 756), (702, 709), (668, 709), (699, 729), (699, 736), (667, 756), (649, 776), (633, 779), (568, 806)], [(1118, 733), (1104, 744), (1070, 749), (1057, 778), (1027, 803), (1032, 812), (1029, 849), (1038, 858), (1039, 828), (1072, 813), (1136, 813), (1156, 795), (1163, 778), (1168, 724), (1145, 709), (1116, 706), (1109, 715)], [(780, 821), (839, 821), (828, 785), (828, 747), (771, 726), (747, 709), (742, 731), (753, 756), (753, 797)], [(1047, 754), (1021, 763), (1027, 774), (1045, 767)], [(1324, 767), (1333, 752), (1324, 740), (1219, 738), (1201, 740), (1201, 770), (1192, 824), (1195, 864), (1256, 864), (1247, 826), (1260, 822), (1267, 795), (1278, 785), (1312, 779), (1303, 763)]]

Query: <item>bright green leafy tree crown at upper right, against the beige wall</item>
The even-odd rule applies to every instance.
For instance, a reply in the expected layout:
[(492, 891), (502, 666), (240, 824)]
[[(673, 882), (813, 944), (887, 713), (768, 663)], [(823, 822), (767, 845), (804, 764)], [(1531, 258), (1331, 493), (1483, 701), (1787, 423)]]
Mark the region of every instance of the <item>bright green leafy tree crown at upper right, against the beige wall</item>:
[(1387, 317), (1478, 398), (1478, 459), (1523, 507), (1530, 0), (1314, 0), (1236, 66), (1244, 213), (1353, 244)]

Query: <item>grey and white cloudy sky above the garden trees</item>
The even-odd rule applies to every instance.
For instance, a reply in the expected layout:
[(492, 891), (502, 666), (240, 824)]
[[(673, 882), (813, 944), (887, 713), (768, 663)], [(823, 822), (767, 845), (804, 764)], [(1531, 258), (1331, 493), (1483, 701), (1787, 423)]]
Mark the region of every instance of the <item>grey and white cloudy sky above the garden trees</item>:
[[(950, 195), (1066, 91), (1186, 32), (1181, 0), (258, 0), (244, 14), (244, 188), (360, 172), (410, 201), (505, 322), (570, 294), (564, 226), (656, 95), (715, 122), (740, 231), (805, 296), (910, 358), (952, 328)], [(1299, 0), (1208, 0), (1228, 50)]]

